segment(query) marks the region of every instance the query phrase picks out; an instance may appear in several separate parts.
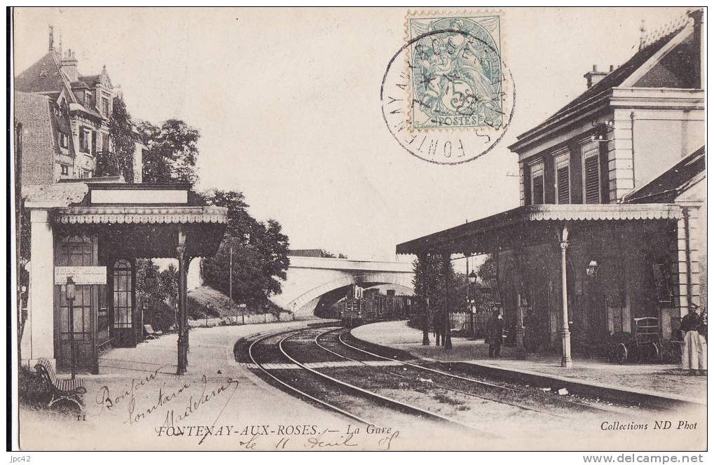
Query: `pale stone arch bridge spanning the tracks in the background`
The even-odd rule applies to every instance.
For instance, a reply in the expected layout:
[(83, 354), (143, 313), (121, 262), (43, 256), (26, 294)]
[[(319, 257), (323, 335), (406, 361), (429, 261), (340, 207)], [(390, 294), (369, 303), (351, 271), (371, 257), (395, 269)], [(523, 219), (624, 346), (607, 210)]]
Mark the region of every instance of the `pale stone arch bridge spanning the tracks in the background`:
[(296, 318), (306, 318), (319, 305), (331, 305), (345, 297), (350, 285), (413, 295), (413, 277), (413, 267), (408, 262), (291, 256), (283, 292), (271, 300), (294, 312)]

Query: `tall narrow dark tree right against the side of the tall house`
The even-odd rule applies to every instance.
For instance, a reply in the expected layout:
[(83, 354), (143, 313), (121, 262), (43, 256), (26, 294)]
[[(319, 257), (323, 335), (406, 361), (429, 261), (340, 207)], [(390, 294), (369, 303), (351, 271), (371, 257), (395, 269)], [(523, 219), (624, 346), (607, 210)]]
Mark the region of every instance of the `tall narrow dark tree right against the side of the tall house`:
[[(102, 175), (124, 175), (126, 183), (134, 183), (134, 150), (136, 134), (131, 115), (121, 97), (114, 97), (109, 118), (109, 138), (112, 153), (100, 152), (96, 160), (96, 173)], [(117, 170), (119, 170), (117, 172)]]

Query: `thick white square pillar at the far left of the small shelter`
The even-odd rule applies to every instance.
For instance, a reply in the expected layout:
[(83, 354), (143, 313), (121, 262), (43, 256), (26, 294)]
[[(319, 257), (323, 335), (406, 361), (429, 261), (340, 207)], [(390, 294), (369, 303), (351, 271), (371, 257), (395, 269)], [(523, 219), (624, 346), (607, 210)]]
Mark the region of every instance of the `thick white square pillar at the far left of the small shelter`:
[(30, 222), (29, 312), (21, 347), (24, 364), (34, 368), (40, 358), (55, 363), (54, 237), (48, 210), (31, 210)]

